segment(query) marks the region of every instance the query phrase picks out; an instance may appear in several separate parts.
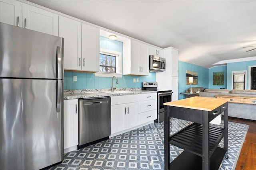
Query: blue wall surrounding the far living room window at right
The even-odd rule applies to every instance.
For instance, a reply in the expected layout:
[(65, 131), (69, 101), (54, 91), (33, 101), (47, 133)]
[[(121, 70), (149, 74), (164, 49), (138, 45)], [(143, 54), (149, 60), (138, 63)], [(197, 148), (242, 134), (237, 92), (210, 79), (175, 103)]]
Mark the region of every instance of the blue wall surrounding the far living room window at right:
[(253, 61), (243, 61), (243, 62), (236, 62), (236, 63), (228, 63), (227, 67), (227, 88), (231, 90), (232, 85), (232, 71), (240, 71), (240, 70), (247, 70), (246, 76), (246, 89), (248, 89), (248, 66), (255, 66), (256, 60)]

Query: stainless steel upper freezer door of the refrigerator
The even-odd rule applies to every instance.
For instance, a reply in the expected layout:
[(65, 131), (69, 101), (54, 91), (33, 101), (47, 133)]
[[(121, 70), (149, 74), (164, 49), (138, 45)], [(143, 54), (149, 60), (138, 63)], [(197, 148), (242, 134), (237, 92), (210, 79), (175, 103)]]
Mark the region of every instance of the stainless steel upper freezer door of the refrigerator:
[(64, 39), (0, 23), (0, 77), (63, 78)]

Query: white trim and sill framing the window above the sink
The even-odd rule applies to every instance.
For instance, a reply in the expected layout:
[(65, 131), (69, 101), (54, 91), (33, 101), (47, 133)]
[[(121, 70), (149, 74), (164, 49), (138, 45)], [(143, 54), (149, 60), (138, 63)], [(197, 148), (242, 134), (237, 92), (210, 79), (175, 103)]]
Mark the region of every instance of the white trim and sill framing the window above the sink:
[[(118, 51), (112, 51), (108, 49), (101, 49), (100, 53), (106, 54), (106, 55), (114, 55), (116, 56), (116, 73), (110, 73), (110, 72), (95, 72), (94, 76), (96, 77), (113, 77), (116, 76), (118, 78), (122, 77), (122, 53)], [(118, 62), (118, 66), (117, 66)]]

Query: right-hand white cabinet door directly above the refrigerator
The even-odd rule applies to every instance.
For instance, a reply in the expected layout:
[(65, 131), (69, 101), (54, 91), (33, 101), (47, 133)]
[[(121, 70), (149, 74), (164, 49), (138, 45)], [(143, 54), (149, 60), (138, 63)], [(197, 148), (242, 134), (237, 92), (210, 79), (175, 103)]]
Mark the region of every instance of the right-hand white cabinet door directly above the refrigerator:
[(58, 36), (58, 15), (28, 4), (22, 4), (22, 27)]

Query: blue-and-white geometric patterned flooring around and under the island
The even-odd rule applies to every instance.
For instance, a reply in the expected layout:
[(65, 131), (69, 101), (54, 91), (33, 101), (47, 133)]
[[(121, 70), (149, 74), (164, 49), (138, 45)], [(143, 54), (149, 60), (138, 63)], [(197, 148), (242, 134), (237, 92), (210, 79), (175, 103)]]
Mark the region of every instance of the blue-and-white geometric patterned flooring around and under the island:
[[(190, 125), (170, 119), (170, 135)], [(223, 121), (220, 126), (223, 126)], [(220, 170), (232, 170), (240, 153), (248, 125), (228, 122), (228, 156)], [(223, 147), (223, 140), (219, 144)], [(170, 145), (170, 161), (182, 149)], [(61, 164), (49, 170), (164, 170), (164, 122), (151, 123), (106, 141), (64, 154)]]

